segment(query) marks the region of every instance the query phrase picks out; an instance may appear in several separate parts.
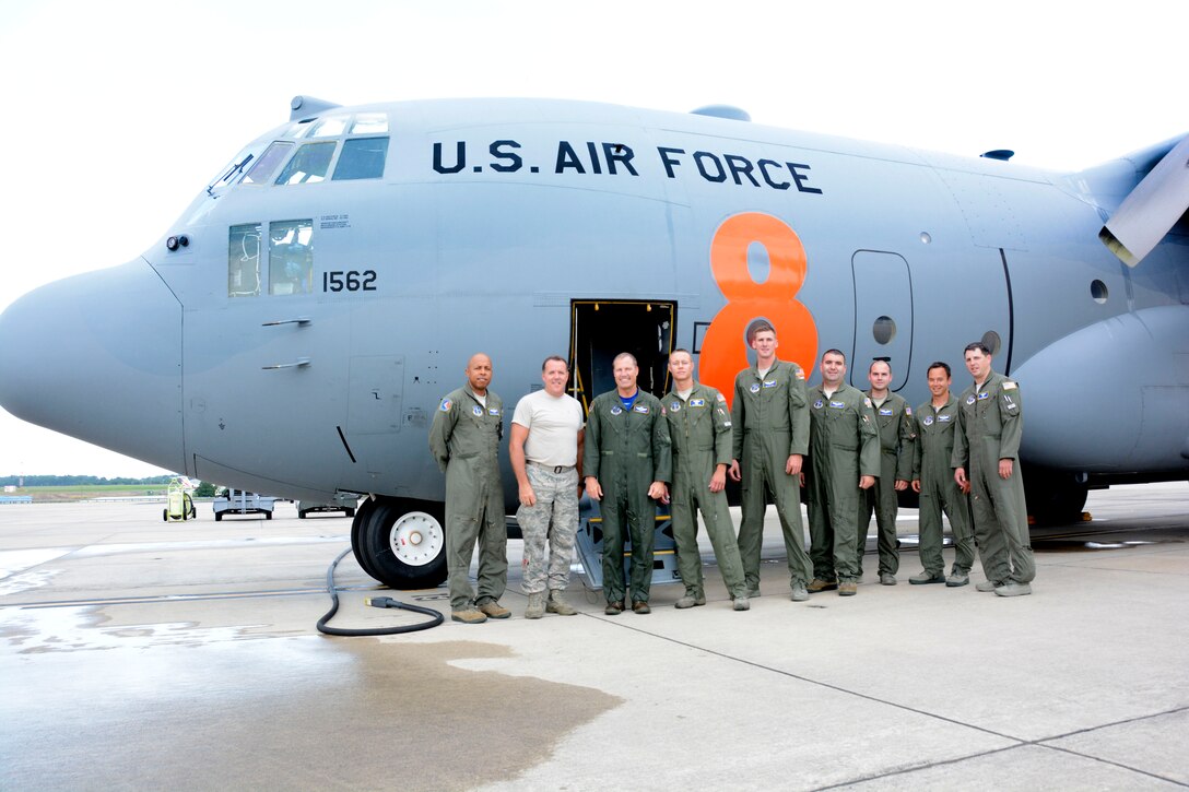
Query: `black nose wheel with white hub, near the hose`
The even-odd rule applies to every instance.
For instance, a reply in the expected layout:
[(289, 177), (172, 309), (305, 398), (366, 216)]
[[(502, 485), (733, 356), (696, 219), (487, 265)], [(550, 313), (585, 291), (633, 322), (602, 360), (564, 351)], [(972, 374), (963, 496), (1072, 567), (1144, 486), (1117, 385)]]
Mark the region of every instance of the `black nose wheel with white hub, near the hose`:
[(371, 566), (367, 573), (404, 590), (445, 580), (445, 511), (442, 503), (378, 498), (361, 535), (361, 553)]

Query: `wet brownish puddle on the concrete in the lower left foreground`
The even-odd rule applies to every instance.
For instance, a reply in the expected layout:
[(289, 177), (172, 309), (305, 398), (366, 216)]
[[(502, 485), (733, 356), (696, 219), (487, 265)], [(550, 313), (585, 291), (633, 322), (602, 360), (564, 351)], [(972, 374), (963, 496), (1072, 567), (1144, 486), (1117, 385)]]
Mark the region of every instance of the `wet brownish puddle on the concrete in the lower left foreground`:
[(514, 656), (496, 645), (101, 628), (94, 610), (0, 611), (6, 788), (470, 788), (622, 700), (451, 665)]

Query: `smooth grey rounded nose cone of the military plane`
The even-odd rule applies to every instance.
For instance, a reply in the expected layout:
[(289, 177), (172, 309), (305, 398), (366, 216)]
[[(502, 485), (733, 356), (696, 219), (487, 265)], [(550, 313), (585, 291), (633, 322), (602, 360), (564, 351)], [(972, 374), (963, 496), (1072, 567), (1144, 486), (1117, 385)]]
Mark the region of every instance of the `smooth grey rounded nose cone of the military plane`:
[(144, 259), (29, 293), (0, 314), (0, 406), (184, 471), (181, 303)]

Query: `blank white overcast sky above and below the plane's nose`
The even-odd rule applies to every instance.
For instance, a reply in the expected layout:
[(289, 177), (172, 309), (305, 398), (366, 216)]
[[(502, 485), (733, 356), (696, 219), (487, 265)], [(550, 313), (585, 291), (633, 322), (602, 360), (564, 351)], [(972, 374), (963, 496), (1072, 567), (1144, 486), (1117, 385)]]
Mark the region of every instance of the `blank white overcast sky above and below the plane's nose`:
[[(1189, 131), (1189, 6), (793, 0), (0, 4), (0, 309), (139, 256), (307, 94), (688, 111), (1075, 170)], [(0, 410), (0, 476), (149, 476)]]

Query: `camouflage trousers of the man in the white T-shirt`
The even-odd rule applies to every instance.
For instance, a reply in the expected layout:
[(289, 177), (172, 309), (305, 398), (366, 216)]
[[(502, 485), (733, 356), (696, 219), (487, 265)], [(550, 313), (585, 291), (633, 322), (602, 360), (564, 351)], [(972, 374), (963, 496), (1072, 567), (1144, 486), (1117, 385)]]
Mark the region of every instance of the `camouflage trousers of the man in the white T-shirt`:
[(516, 522), (524, 536), (521, 587), (527, 595), (546, 589), (560, 591), (570, 585), (570, 564), (578, 534), (578, 470), (553, 471), (553, 467), (533, 463), (524, 466), (536, 495), (535, 505), (521, 505), (516, 510)]

